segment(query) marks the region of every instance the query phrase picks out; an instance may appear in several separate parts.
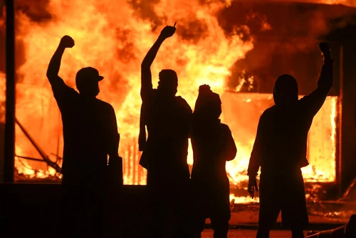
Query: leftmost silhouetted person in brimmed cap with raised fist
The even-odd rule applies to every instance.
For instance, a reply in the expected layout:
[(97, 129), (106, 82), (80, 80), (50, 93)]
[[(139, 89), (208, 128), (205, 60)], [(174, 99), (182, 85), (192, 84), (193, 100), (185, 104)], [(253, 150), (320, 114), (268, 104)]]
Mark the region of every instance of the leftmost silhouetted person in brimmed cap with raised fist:
[(103, 237), (108, 156), (118, 157), (117, 122), (112, 106), (96, 98), (103, 80), (98, 70), (77, 72), (79, 93), (58, 76), (64, 50), (73, 46), (74, 40), (63, 36), (47, 70), (63, 122), (64, 237)]

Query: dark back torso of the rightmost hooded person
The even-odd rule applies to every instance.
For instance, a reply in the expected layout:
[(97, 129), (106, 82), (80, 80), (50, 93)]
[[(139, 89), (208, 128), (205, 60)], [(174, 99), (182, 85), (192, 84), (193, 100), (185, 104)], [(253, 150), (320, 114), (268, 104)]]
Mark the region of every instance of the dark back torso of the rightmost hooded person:
[[(265, 150), (261, 171), (278, 173), (308, 165), (306, 160), (308, 131), (314, 114), (302, 100), (288, 105), (274, 105), (261, 116)], [(288, 173), (288, 172), (287, 172)]]

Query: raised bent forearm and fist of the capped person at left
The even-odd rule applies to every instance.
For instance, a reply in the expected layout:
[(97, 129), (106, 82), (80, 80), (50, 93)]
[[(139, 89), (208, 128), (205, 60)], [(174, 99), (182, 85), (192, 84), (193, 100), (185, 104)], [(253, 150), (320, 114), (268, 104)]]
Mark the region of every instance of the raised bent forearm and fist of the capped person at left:
[(66, 48), (72, 48), (73, 46), (74, 40), (70, 38), (70, 36), (63, 36), (56, 52), (53, 54), (47, 69), (47, 77), (52, 87), (61, 87), (65, 85), (61, 77), (58, 76), (58, 72), (59, 68), (61, 67), (61, 60), (64, 50)]

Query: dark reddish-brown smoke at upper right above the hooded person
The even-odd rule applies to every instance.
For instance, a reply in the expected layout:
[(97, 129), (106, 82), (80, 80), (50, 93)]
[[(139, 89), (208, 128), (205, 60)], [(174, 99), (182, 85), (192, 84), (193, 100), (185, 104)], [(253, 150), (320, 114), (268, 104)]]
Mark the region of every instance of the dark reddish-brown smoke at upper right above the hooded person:
[(300, 82), (302, 94), (313, 90), (323, 63), (318, 43), (330, 31), (350, 23), (356, 13), (346, 6), (320, 3), (234, 1), (221, 11), (219, 22), (227, 33), (240, 26), (238, 32), (255, 38), (253, 50), (231, 68), (229, 87), (234, 90), (241, 80), (253, 77), (258, 92), (271, 92), (276, 78), (288, 73)]

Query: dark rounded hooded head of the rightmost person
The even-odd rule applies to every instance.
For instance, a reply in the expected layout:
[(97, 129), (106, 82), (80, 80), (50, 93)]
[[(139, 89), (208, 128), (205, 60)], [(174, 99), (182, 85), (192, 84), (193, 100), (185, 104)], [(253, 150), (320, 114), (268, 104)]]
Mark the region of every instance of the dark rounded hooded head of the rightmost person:
[(298, 82), (291, 75), (281, 75), (277, 78), (273, 88), (275, 104), (288, 104), (298, 101)]

